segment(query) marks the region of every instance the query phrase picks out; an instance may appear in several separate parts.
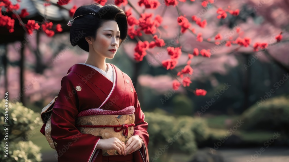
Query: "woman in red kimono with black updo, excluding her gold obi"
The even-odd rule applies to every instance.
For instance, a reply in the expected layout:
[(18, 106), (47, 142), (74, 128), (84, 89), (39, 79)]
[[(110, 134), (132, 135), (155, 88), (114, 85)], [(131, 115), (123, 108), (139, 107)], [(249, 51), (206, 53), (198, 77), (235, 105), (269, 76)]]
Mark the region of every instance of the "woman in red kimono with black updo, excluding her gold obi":
[[(105, 62), (106, 58), (114, 58), (127, 37), (125, 13), (115, 5), (83, 5), (68, 25), (71, 26), (71, 44), (87, 51), (88, 58), (84, 64), (73, 65), (62, 78), (62, 87), (53, 106), (51, 138), (58, 161), (149, 161), (148, 124), (132, 81), (115, 65)], [(102, 103), (105, 104), (101, 106)], [(75, 119), (80, 112), (99, 107), (119, 111), (129, 106), (135, 108), (135, 120), (133, 135), (126, 144), (118, 138), (102, 139), (81, 133), (76, 127)], [(103, 150), (116, 150), (119, 155), (103, 156)]]

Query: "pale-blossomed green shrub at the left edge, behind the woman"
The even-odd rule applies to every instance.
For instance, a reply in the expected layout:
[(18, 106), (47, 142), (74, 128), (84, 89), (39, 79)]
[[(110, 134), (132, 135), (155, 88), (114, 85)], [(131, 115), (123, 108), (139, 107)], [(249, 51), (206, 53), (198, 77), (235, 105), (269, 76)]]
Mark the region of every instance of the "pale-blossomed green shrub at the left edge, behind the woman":
[[(36, 126), (42, 125), (39, 113), (34, 113), (33, 110), (26, 108), (22, 103), (15, 104), (9, 102), (8, 115), (5, 113), (5, 100), (0, 102), (0, 136), (1, 138), (1, 155), (0, 159), (3, 161), (41, 161), (40, 148), (29, 141), (30, 137), (35, 134)], [(6, 106), (7, 107), (7, 106)], [(5, 120), (8, 117), (8, 122)], [(6, 119), (5, 119), (6, 118)], [(4, 126), (9, 125), (9, 126)], [(8, 139), (5, 128), (8, 127)], [(5, 140), (4, 140), (5, 139)], [(9, 158), (4, 157), (5, 142), (9, 146)], [(5, 144), (5, 145), (4, 145)]]

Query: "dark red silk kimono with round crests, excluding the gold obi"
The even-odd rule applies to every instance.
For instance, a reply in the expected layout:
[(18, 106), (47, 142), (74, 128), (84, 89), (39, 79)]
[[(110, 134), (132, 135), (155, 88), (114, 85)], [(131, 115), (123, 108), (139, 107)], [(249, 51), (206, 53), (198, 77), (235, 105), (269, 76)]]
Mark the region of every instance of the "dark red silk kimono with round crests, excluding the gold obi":
[[(111, 65), (116, 71), (116, 83), (109, 100), (101, 108), (121, 110), (128, 106), (135, 107), (133, 135), (142, 138), (143, 146), (133, 153), (134, 161), (148, 162), (148, 124), (144, 121), (136, 91), (130, 77)], [(75, 64), (62, 78), (61, 86), (51, 117), (51, 138), (58, 153), (58, 161), (102, 161), (102, 150), (95, 148), (101, 137), (79, 132), (75, 127), (75, 117), (80, 111), (101, 106), (110, 93), (113, 82), (89, 66)], [(79, 87), (76, 89), (77, 86), (81, 90)]]

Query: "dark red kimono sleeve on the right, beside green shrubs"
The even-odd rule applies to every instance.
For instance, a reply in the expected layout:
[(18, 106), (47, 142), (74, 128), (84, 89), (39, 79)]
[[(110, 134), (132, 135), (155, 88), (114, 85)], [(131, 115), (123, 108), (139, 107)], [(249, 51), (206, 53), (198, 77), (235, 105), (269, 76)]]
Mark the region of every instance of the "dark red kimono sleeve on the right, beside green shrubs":
[[(134, 89), (134, 87), (133, 87)], [(138, 157), (140, 154), (142, 155), (142, 157), (138, 157), (138, 159), (142, 159), (144, 162), (148, 162), (149, 161), (149, 152), (147, 149), (148, 143), (149, 143), (149, 134), (147, 132), (147, 127), (148, 127), (148, 123), (146, 121), (144, 121), (144, 113), (142, 112), (141, 108), (140, 108), (140, 102), (138, 100), (138, 96), (136, 94), (136, 91), (134, 89), (134, 93), (135, 93), (135, 105), (134, 107), (136, 108), (135, 112), (134, 112), (134, 135), (138, 135), (141, 137), (142, 141), (143, 141), (143, 145), (142, 147), (134, 152), (134, 156), (135, 158)], [(138, 152), (140, 152), (140, 154), (138, 154)]]

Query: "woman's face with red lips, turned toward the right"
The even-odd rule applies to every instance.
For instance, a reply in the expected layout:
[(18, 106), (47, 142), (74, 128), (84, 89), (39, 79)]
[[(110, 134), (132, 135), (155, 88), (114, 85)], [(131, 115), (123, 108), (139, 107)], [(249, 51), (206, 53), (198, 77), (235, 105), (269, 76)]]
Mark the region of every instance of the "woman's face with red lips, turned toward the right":
[[(106, 21), (97, 30), (96, 39), (92, 39), (92, 50), (100, 57), (112, 59), (119, 47), (120, 31), (116, 21)], [(110, 51), (114, 49), (115, 52)]]

